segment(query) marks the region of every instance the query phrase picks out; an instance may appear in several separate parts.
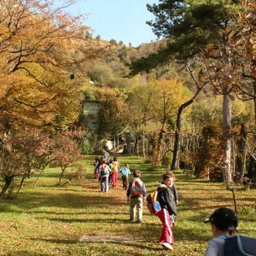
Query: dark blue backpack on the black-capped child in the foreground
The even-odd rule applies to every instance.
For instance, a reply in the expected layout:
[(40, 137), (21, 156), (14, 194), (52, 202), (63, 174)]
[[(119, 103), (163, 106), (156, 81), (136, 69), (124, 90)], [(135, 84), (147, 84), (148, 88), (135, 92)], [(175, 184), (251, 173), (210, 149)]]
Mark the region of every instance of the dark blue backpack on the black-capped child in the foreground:
[(225, 256), (256, 256), (256, 238), (231, 236), (224, 242)]

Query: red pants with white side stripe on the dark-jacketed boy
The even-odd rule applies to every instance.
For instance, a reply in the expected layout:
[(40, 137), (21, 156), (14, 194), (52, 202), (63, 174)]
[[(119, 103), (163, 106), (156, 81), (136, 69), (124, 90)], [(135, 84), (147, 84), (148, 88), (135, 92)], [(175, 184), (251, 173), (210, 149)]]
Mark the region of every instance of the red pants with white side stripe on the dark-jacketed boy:
[(162, 209), (160, 210), (160, 212), (157, 213), (157, 216), (158, 218), (160, 218), (160, 221), (163, 224), (160, 242), (169, 242), (171, 244), (174, 244), (169, 212), (166, 209)]

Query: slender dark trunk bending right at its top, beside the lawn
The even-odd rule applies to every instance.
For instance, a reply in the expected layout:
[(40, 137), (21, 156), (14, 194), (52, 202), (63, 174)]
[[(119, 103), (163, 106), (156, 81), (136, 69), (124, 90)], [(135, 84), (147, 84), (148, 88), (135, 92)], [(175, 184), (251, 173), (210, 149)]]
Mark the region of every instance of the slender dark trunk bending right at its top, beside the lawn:
[(179, 159), (179, 154), (180, 154), (180, 141), (181, 141), (180, 133), (181, 133), (181, 128), (182, 128), (183, 110), (185, 108), (189, 107), (189, 105), (195, 101), (195, 99), (197, 98), (197, 96), (199, 95), (201, 90), (202, 90), (202, 87), (198, 88), (197, 91), (195, 92), (195, 95), (188, 102), (183, 103), (178, 108), (176, 131), (175, 131), (175, 141), (174, 141), (174, 148), (173, 148), (173, 158), (172, 158), (172, 166), (171, 166), (172, 171), (179, 168), (178, 159)]

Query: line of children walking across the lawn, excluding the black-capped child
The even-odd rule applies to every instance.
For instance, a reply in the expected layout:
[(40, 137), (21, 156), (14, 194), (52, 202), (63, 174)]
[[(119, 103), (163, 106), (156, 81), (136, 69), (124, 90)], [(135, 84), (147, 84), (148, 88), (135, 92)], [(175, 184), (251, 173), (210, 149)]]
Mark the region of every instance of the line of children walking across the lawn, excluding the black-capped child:
[[(106, 157), (106, 151), (102, 152)], [(141, 180), (142, 173), (139, 170), (132, 172), (133, 179), (129, 183), (131, 171), (129, 165), (125, 164), (120, 168), (116, 157), (112, 160), (105, 158), (97, 159), (95, 162), (95, 178), (101, 182), (101, 191), (108, 192), (108, 184), (113, 188), (117, 186), (118, 174), (121, 174), (123, 189), (126, 190), (127, 202), (130, 203), (130, 221), (136, 220), (137, 223), (143, 223), (143, 203), (147, 198), (146, 187)], [(172, 227), (174, 225), (174, 215), (177, 215), (177, 188), (176, 178), (173, 172), (165, 172), (162, 176), (162, 182), (157, 188), (160, 211), (155, 214), (160, 218), (162, 231), (160, 235), (160, 244), (166, 249), (173, 250), (174, 238)]]

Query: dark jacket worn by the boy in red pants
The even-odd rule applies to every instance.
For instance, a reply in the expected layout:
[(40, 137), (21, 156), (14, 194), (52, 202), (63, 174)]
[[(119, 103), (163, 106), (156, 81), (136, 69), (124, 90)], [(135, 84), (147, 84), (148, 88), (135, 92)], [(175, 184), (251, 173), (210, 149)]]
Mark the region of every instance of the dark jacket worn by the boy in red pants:
[(170, 214), (177, 215), (177, 207), (172, 190), (168, 189), (165, 184), (160, 184), (157, 190), (161, 208), (166, 209)]

